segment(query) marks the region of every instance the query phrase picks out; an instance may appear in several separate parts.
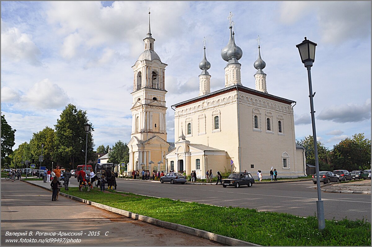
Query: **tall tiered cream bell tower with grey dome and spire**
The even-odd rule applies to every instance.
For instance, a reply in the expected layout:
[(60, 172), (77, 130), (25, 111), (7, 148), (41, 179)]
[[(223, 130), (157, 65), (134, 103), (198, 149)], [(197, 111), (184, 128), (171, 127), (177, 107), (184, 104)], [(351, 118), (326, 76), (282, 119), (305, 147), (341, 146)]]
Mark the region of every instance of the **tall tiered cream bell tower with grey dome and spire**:
[[(165, 67), (154, 51), (155, 39), (151, 36), (150, 11), (148, 12), (148, 31), (144, 41), (144, 51), (132, 66), (134, 72), (132, 101), (132, 133), (129, 147), (130, 169), (148, 169), (148, 162), (163, 162), (168, 149), (166, 131)], [(151, 142), (150, 142), (151, 139)], [(151, 147), (162, 144), (158, 151)], [(150, 143), (149, 143), (150, 142)], [(130, 144), (130, 145), (129, 145)], [(155, 145), (156, 146), (156, 145)], [(163, 150), (164, 149), (164, 150)], [(151, 152), (152, 150), (152, 152)], [(151, 160), (150, 159), (156, 159)]]

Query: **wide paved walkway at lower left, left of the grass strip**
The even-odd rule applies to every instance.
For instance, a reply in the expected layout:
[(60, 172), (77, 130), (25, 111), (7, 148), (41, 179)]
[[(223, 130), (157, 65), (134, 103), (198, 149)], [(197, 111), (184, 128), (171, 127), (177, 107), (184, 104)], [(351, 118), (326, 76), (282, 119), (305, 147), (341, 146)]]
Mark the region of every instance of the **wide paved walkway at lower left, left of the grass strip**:
[[(40, 183), (45, 188), (49, 183)], [(216, 246), (214, 241), (195, 237), (59, 196), (23, 181), (1, 181), (1, 246)], [(6, 232), (33, 232), (33, 236), (5, 236)], [(82, 236), (35, 236), (43, 233), (80, 233)], [(99, 236), (88, 236), (100, 231)], [(107, 236), (105, 233), (107, 233)], [(80, 243), (6, 243), (6, 239), (81, 239)], [(169, 241), (171, 240), (171, 241)]]

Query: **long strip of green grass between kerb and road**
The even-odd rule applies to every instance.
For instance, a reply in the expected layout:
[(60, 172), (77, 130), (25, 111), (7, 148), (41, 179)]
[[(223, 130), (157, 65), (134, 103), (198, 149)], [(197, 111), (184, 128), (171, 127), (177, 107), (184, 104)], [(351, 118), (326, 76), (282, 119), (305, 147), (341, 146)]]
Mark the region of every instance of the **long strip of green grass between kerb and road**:
[[(64, 193), (159, 220), (237, 238), (263, 246), (371, 246), (371, 223), (365, 220), (318, 221), (256, 209), (226, 208), (121, 192), (70, 188)], [(315, 202), (314, 202), (315, 203)]]

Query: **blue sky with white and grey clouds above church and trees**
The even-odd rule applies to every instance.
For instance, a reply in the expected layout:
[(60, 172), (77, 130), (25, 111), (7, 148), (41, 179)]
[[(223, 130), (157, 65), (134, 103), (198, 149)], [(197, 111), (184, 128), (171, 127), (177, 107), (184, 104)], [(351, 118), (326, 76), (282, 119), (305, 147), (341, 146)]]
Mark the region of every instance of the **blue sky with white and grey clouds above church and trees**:
[(312, 87), (318, 140), (330, 149), (355, 133), (371, 139), (369, 1), (1, 1), (1, 112), (16, 145), (54, 127), (69, 103), (86, 110), (96, 147), (131, 134), (131, 66), (143, 51), (151, 7), (155, 51), (166, 68), (167, 132), (172, 104), (198, 96), (203, 37), (211, 91), (224, 88), (220, 52), (234, 14), (242, 84), (255, 87), (260, 36), (267, 91), (296, 101), (296, 139), (312, 135), (307, 71), (296, 45), (318, 44)]

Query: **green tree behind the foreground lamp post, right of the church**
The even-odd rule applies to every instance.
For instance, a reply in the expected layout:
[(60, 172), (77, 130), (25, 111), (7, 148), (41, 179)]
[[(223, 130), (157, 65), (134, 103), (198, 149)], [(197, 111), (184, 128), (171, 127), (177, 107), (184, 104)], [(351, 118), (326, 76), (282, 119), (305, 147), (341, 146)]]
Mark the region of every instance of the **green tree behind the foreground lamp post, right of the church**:
[[(310, 135), (299, 141), (296, 140), (296, 142), (306, 149), (306, 163), (315, 166), (314, 138), (312, 138)], [(324, 144), (322, 144), (320, 141), (317, 141), (317, 147), (319, 170), (331, 170), (331, 165), (327, 163), (327, 158), (330, 151), (325, 150)]]

